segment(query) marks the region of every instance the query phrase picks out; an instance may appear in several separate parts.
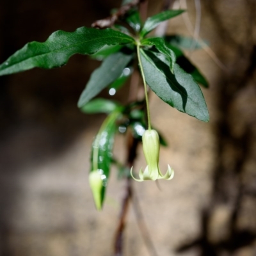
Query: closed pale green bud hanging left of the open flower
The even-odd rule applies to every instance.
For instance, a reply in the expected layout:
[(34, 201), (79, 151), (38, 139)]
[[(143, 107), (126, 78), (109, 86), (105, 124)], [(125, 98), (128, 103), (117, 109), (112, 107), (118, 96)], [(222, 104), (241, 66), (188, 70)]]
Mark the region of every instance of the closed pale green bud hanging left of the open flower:
[(89, 174), (89, 184), (92, 189), (92, 194), (97, 210), (101, 210), (102, 200), (101, 191), (103, 187), (102, 173), (100, 170), (93, 170)]

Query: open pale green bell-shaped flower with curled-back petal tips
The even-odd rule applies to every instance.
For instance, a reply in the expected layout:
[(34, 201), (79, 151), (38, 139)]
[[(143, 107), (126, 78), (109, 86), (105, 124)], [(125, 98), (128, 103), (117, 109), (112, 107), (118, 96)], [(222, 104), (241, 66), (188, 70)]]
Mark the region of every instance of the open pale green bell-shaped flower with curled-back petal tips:
[(165, 179), (171, 180), (174, 176), (174, 171), (168, 164), (167, 172), (163, 175), (159, 169), (159, 136), (157, 131), (153, 129), (149, 129), (144, 132), (142, 136), (142, 145), (144, 156), (147, 161), (147, 167), (144, 172), (142, 168), (139, 172), (140, 179), (134, 178), (132, 175), (131, 168), (131, 176), (134, 180), (143, 181), (143, 180), (157, 180), (157, 179)]

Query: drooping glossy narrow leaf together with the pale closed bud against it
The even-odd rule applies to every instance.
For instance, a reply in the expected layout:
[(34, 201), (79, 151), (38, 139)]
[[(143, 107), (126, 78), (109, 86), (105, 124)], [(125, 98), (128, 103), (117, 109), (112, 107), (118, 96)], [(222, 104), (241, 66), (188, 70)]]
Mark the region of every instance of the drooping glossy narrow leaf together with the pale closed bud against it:
[(108, 186), (116, 120), (120, 115), (120, 111), (114, 111), (104, 120), (92, 145), (92, 167), (89, 181), (98, 210), (102, 209), (106, 186)]

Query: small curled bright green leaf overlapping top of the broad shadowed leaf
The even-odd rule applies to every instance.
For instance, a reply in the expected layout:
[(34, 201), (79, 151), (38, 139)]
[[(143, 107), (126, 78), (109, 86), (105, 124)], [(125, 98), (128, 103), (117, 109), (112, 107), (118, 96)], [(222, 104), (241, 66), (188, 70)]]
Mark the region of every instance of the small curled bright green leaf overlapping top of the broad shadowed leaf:
[(162, 52), (164, 55), (167, 56), (167, 58), (171, 63), (170, 68), (171, 70), (173, 70), (173, 67), (176, 61), (176, 56), (175, 56), (175, 53), (172, 51), (172, 49), (166, 46), (163, 38), (159, 38), (159, 37), (145, 38), (141, 41), (141, 45), (155, 45), (156, 49), (159, 52)]

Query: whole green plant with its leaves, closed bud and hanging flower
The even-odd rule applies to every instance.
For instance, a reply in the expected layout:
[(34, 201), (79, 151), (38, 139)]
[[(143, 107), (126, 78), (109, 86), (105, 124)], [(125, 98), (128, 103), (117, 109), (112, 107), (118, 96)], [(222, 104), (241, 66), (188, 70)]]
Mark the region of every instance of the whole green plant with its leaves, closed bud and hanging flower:
[[(158, 168), (159, 143), (166, 145), (166, 142), (152, 128), (147, 85), (169, 106), (203, 122), (209, 121), (204, 95), (198, 86), (200, 83), (208, 87), (208, 83), (181, 50), (186, 38), (177, 35), (148, 36), (161, 22), (180, 15), (184, 10), (166, 10), (143, 23), (137, 8), (138, 1), (126, 2), (129, 3), (111, 16), (119, 24), (113, 19), (105, 19), (95, 22), (94, 26), (111, 28), (82, 27), (71, 33), (56, 31), (44, 43), (26, 44), (0, 65), (0, 76), (3, 76), (34, 67), (61, 67), (77, 53), (102, 60), (77, 104), (84, 113), (108, 114), (92, 145), (89, 179), (97, 209), (102, 209), (104, 203), (111, 164), (118, 166), (122, 177), (130, 179), (127, 169), (131, 168), (134, 161), (132, 150), (136, 150), (142, 138), (148, 166), (145, 172), (140, 171), (140, 181), (173, 177), (170, 166), (166, 175)], [(133, 99), (128, 104), (122, 104), (113, 100), (93, 99), (104, 88), (119, 90), (136, 69), (140, 70), (143, 81), (143, 100)], [(127, 130), (132, 134), (134, 147), (131, 147), (130, 155), (133, 155), (128, 157), (126, 164), (121, 164), (113, 157), (113, 143), (116, 132), (125, 133)]]

